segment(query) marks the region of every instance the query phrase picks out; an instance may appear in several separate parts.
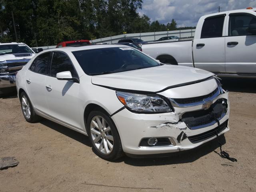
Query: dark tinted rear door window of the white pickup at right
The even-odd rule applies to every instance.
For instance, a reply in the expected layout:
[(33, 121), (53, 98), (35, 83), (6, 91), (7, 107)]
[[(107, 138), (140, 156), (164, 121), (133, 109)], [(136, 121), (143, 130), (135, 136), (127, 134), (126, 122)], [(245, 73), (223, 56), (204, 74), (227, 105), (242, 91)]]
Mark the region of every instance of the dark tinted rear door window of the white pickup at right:
[(225, 15), (208, 17), (204, 20), (201, 38), (222, 37)]

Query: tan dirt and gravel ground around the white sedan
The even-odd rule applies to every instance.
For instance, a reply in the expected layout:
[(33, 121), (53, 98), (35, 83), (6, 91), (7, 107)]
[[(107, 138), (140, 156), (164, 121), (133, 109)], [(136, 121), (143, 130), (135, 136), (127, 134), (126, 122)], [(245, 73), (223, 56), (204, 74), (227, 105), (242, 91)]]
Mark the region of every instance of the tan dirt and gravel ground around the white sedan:
[(20, 164), (0, 170), (1, 192), (256, 191), (256, 80), (228, 79), (230, 131), (221, 158), (216, 140), (167, 158), (116, 162), (98, 158), (86, 136), (42, 120), (25, 121), (15, 94), (0, 99), (0, 157)]

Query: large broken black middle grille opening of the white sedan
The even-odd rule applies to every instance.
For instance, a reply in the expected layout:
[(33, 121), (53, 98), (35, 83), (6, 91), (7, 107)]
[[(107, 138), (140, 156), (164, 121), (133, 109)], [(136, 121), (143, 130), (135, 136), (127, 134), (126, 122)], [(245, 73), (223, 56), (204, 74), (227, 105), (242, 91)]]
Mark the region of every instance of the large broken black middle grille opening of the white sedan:
[[(220, 120), (227, 113), (227, 100), (218, 99), (207, 110), (197, 110), (186, 112), (182, 115), (181, 121), (185, 122), (188, 128), (196, 129), (198, 126)], [(201, 127), (203, 128), (203, 126)]]

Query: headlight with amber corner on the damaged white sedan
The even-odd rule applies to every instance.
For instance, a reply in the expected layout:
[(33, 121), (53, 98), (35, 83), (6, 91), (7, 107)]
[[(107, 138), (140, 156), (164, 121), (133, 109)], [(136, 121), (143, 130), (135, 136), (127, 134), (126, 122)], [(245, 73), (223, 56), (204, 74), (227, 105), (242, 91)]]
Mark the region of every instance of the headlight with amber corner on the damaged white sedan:
[(158, 95), (143, 95), (127, 92), (116, 92), (120, 102), (134, 112), (164, 113), (172, 109)]

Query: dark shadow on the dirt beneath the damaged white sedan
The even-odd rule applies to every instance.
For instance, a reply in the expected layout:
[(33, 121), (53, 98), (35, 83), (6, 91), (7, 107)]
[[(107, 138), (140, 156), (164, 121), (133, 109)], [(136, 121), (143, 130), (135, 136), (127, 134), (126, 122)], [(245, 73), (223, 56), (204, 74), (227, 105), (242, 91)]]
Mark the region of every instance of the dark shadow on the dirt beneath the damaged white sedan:
[[(69, 128), (66, 128), (62, 125), (59, 125), (57, 123), (54, 123), (50, 120), (43, 119), (40, 121), (41, 124), (56, 130), (60, 132), (61, 134), (64, 134), (88, 147), (92, 147), (90, 140), (87, 136), (84, 134), (78, 133), (74, 130), (71, 130)], [(221, 135), (219, 137), (219, 140), (222, 144), (226, 143), (224, 135)], [(86, 147), (85, 146), (85, 147)], [(124, 156), (118, 160), (115, 160), (114, 162), (124, 162), (126, 164), (132, 165), (132, 166), (157, 166), (157, 165), (167, 165), (167, 164), (180, 164), (180, 163), (189, 163), (194, 162), (195, 160), (199, 158), (204, 158), (206, 154), (209, 154), (216, 150), (219, 147), (218, 141), (216, 139), (207, 142), (203, 144), (202, 146), (199, 146), (198, 148), (188, 150), (188, 151), (182, 151), (182, 152), (175, 152), (168, 154), (167, 157), (157, 157), (157, 158), (130, 158), (128, 156)], [(216, 154), (218, 156), (218, 154)]]

